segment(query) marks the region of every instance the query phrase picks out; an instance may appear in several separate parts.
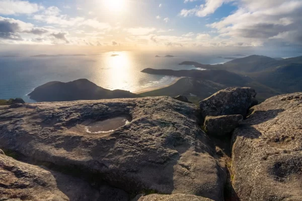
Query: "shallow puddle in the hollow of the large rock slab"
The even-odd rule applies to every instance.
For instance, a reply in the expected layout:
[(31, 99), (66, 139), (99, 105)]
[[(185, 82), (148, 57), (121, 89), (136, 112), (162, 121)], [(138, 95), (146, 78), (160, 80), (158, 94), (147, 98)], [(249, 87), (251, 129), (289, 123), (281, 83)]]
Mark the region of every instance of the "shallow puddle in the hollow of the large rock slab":
[(107, 119), (104, 121), (98, 121), (98, 122), (89, 122), (89, 123), (83, 123), (82, 125), (85, 125), (85, 130), (87, 133), (92, 134), (99, 134), (99, 133), (109, 133), (121, 126), (125, 126), (130, 123), (129, 117), (116, 117), (112, 119)]

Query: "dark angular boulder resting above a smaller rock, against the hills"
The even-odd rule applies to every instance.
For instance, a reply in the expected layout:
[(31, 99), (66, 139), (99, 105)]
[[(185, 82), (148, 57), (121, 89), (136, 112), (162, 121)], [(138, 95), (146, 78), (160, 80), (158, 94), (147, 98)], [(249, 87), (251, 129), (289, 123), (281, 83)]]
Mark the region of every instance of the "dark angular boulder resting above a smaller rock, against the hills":
[(200, 113), (206, 116), (242, 115), (256, 104), (255, 89), (250, 87), (230, 87), (216, 92), (199, 102)]

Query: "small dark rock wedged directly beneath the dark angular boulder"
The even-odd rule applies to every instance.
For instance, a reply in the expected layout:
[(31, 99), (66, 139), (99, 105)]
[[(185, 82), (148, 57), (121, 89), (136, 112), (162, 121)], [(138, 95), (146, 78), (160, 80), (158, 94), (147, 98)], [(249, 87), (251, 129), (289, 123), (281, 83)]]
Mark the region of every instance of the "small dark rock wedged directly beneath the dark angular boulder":
[(206, 116), (203, 127), (209, 135), (224, 136), (230, 134), (242, 120), (242, 115)]

